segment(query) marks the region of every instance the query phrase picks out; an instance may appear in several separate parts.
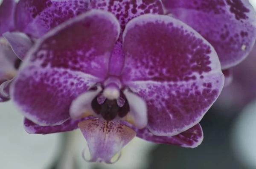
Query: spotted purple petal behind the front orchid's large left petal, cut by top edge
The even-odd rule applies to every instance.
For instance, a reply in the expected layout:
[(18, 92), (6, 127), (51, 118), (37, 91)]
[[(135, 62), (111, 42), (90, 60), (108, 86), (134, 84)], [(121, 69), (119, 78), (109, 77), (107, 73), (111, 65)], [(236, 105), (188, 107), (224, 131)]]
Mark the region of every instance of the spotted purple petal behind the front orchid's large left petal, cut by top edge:
[(87, 11), (89, 0), (20, 0), (15, 24), (19, 31), (38, 38), (49, 30)]

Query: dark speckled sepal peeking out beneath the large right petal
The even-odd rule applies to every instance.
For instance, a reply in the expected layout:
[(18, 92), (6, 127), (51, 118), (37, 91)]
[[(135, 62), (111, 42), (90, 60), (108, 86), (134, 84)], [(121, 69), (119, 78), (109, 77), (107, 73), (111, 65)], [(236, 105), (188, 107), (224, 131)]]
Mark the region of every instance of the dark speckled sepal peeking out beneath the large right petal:
[(125, 123), (125, 125), (133, 129), (137, 133), (137, 137), (154, 143), (173, 144), (176, 146), (195, 148), (199, 146), (204, 139), (203, 130), (199, 123), (174, 136), (157, 136), (153, 135), (147, 128), (138, 129), (128, 123)]

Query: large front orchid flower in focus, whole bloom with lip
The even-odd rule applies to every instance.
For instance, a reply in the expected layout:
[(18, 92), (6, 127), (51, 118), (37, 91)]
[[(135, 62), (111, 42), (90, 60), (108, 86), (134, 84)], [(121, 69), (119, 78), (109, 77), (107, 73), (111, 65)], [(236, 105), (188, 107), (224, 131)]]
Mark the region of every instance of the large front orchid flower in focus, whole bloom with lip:
[(92, 0), (89, 9), (26, 54), (11, 85), (25, 129), (47, 134), (79, 127), (92, 162), (112, 163), (135, 135), (198, 146), (198, 122), (224, 85), (212, 45), (163, 15), (160, 0)]

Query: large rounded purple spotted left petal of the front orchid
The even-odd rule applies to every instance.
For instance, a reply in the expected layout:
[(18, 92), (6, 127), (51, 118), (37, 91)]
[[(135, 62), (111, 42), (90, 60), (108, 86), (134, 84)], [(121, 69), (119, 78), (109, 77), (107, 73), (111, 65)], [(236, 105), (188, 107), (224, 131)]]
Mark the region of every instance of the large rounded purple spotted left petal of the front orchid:
[(105, 78), (118, 25), (111, 13), (93, 10), (38, 40), (11, 86), (25, 117), (39, 125), (69, 119), (71, 102)]

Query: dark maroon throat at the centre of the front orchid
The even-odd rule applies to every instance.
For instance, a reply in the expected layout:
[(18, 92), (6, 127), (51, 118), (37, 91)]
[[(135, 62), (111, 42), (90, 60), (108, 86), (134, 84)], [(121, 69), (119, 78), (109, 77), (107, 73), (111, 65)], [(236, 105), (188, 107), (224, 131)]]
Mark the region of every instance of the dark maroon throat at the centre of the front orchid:
[[(121, 95), (124, 97), (124, 95)], [(97, 96), (98, 97), (98, 96)], [(117, 100), (109, 100), (105, 99), (105, 101), (102, 104), (99, 104), (97, 101), (97, 97), (95, 97), (92, 101), (92, 107), (95, 113), (102, 115), (102, 117), (107, 121), (112, 121), (117, 116), (119, 117), (125, 117), (127, 113), (129, 112), (129, 104), (126, 98), (125, 103), (122, 107), (119, 107), (117, 104)]]

